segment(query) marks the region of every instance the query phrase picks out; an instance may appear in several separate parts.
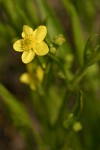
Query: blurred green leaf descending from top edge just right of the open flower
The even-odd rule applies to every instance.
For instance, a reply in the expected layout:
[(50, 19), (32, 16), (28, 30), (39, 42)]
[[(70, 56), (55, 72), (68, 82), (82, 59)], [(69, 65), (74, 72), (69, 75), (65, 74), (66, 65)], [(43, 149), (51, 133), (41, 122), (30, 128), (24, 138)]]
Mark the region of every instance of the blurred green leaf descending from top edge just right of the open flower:
[(46, 25), (48, 26), (49, 36), (52, 38), (53, 36), (62, 33), (63, 29), (60, 22), (58, 21), (53, 9), (48, 6), (47, 1), (36, 0), (36, 2), (40, 10), (41, 20), (46, 21)]

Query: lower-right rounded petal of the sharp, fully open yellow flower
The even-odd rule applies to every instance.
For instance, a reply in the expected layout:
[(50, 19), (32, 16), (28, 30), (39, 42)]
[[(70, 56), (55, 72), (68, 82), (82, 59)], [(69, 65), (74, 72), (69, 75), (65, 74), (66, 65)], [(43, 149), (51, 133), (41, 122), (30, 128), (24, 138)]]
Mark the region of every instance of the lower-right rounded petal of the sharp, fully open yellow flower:
[(34, 45), (34, 52), (40, 56), (46, 55), (49, 52), (48, 45), (44, 41), (36, 42)]

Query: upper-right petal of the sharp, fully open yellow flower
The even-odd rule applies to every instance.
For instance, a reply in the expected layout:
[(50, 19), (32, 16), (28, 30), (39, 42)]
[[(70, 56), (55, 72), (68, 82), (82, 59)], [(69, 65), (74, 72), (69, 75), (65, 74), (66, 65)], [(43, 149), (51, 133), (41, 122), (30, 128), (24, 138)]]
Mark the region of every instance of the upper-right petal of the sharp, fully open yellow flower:
[(34, 38), (36, 41), (43, 41), (47, 34), (47, 28), (45, 26), (39, 26), (34, 31)]

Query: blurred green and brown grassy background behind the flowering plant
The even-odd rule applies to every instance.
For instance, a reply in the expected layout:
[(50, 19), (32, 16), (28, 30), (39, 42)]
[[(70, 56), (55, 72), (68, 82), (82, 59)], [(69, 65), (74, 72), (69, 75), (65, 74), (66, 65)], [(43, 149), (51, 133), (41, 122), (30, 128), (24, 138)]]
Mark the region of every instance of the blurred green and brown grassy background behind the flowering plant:
[[(0, 83), (6, 87), (0, 84), (0, 150), (100, 150), (100, 62), (89, 68), (80, 85), (84, 91), (79, 118), (82, 130), (72, 132), (62, 126), (47, 126), (39, 97), (19, 81), (26, 66), (21, 54), (13, 50), (13, 43), (21, 38), (23, 25), (33, 29), (45, 25), (51, 41), (63, 34), (66, 43), (59, 55), (62, 59), (73, 55), (74, 75), (82, 66), (87, 39), (100, 34), (100, 0), (0, 0)], [(62, 84), (58, 84), (59, 90), (60, 85), (64, 88)], [(59, 101), (53, 88), (51, 99)], [(67, 111), (73, 106), (74, 97)], [(59, 111), (56, 100), (48, 102), (52, 118)], [(41, 132), (40, 126), (44, 128), (42, 140), (46, 146), (36, 133)]]

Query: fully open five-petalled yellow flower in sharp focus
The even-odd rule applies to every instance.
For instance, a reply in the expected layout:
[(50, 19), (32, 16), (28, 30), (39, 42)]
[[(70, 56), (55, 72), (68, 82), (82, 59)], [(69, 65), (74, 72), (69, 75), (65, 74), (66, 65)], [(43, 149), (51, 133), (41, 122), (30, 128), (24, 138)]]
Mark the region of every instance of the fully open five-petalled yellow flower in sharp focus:
[(47, 34), (45, 26), (39, 26), (33, 31), (27, 25), (23, 26), (22, 38), (13, 44), (15, 51), (23, 52), (22, 61), (29, 63), (35, 56), (46, 55), (49, 52), (48, 45), (43, 41)]

